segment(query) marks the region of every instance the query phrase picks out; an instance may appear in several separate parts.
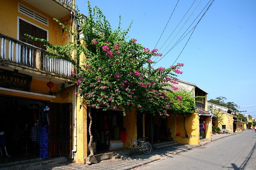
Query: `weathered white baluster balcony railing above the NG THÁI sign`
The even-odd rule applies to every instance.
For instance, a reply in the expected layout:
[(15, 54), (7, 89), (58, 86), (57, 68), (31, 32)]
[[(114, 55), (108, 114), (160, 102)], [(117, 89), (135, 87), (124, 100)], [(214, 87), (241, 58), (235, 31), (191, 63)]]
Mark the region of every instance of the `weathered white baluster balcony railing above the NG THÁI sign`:
[(72, 76), (74, 65), (71, 62), (60, 58), (49, 58), (47, 56), (56, 55), (3, 34), (0, 34), (0, 40), (1, 59), (51, 73)]

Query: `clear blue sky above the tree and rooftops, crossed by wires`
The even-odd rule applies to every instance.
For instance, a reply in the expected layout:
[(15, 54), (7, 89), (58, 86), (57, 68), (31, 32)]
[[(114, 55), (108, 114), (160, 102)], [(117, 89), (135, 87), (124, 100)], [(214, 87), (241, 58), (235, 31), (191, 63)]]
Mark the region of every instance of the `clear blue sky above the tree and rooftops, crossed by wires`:
[[(156, 46), (164, 55), (161, 60), (153, 58), (159, 60), (154, 67), (184, 63), (179, 79), (205, 90), (208, 100), (226, 97), (225, 102), (234, 102), (238, 110), (256, 117), (256, 1), (215, 0), (202, 17), (208, 2), (92, 0), (90, 4), (102, 10), (113, 29), (119, 15), (122, 29), (133, 21), (129, 39), (137, 39), (150, 50)], [(76, 4), (81, 13), (88, 14), (86, 0), (76, 0)]]

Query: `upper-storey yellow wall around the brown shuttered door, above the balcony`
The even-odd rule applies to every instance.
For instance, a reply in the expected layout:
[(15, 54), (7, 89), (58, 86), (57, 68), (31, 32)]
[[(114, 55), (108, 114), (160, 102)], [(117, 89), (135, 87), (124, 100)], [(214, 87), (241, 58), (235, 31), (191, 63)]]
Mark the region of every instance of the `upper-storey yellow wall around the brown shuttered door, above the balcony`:
[[(31, 19), (30, 17), (23, 15), (22, 13), (18, 12), (18, 2), (21, 2), (23, 5), (33, 9), (34, 11), (40, 13), (43, 16), (48, 17), (49, 19), (49, 26), (44, 25), (36, 20)], [(18, 32), (18, 17), (21, 19), (31, 22), (39, 28), (44, 30), (48, 30), (48, 40), (53, 45), (66, 45), (68, 40), (72, 41), (72, 36), (68, 38), (68, 32), (65, 31), (62, 35), (62, 27), (53, 20), (53, 17), (40, 11), (39, 9), (34, 8), (33, 6), (29, 5), (26, 2), (20, 0), (0, 0), (0, 33), (5, 34), (9, 37), (19, 39), (17, 32)], [(70, 16), (67, 15), (60, 19), (60, 21), (65, 24), (69, 25), (70, 27)]]

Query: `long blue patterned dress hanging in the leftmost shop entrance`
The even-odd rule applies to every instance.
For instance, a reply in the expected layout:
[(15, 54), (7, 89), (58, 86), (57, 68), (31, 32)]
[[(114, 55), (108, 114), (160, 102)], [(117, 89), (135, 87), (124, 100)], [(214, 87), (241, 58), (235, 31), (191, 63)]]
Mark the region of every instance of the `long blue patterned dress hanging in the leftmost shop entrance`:
[(41, 136), (40, 136), (40, 158), (48, 158), (49, 150), (48, 150), (48, 134), (47, 134), (47, 125), (41, 127)]

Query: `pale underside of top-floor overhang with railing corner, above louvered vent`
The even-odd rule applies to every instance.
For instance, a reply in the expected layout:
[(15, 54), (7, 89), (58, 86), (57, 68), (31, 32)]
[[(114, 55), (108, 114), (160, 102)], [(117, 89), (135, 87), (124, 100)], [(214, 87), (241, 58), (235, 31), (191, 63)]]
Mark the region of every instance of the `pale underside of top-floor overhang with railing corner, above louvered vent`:
[(61, 19), (70, 12), (75, 13), (74, 0), (23, 0), (50, 16)]

